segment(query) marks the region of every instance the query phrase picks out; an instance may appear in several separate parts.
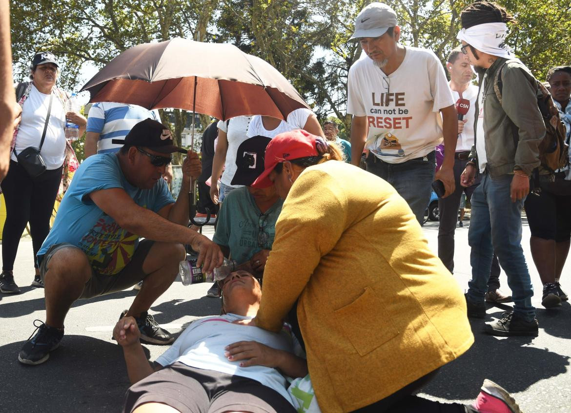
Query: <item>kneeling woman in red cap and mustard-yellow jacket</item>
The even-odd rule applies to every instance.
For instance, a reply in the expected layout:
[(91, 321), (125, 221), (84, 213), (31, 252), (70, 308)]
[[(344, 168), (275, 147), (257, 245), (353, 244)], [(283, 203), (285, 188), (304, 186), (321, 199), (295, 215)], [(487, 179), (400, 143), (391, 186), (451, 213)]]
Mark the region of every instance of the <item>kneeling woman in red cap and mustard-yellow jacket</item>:
[(273, 182), (285, 201), (258, 315), (243, 324), (277, 332), (297, 302), (321, 411), (475, 411), (411, 396), (472, 345), (465, 299), (407, 202), (340, 159), (303, 130), (267, 146), (252, 186)]

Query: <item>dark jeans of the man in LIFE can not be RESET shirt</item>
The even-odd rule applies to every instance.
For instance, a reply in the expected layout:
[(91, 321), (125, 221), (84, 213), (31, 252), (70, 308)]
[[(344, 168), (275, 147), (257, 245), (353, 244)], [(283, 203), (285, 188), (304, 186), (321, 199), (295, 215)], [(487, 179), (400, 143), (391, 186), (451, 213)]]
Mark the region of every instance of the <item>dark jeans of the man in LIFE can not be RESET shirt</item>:
[(423, 222), (424, 211), (430, 201), (435, 167), (434, 151), (420, 159), (411, 159), (403, 163), (387, 163), (373, 154), (367, 157), (367, 171), (395, 187), (420, 223)]

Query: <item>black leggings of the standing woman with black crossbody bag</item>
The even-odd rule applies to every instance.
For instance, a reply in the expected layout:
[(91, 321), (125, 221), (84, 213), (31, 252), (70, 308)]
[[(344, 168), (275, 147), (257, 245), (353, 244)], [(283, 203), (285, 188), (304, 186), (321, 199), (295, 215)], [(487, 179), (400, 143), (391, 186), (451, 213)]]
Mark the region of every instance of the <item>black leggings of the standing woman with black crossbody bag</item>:
[(61, 179), (62, 166), (31, 178), (18, 162), (10, 161), (8, 174), (0, 184), (6, 203), (6, 222), (2, 231), (3, 271), (14, 269), (18, 244), (27, 222), (34, 247), (34, 267), (38, 267), (36, 254), (50, 232), (50, 217)]

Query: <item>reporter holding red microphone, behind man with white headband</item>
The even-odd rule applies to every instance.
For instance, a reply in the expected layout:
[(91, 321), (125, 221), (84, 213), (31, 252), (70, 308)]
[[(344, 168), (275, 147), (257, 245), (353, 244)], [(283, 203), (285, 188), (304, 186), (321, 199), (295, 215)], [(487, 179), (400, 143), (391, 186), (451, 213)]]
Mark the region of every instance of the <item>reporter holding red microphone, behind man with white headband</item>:
[[(455, 191), (446, 198), (439, 198), (438, 208), (440, 212), (440, 223), (438, 229), (438, 256), (450, 272), (454, 270), (454, 232), (458, 220), (458, 208), (462, 193), (466, 194), (466, 199), (472, 197), (474, 189), (480, 183), (479, 179), (469, 187), (460, 185), (460, 175), (464, 171), (466, 162), (474, 145), (474, 121), (476, 98), (478, 87), (472, 85), (474, 72), (468, 63), (468, 57), (462, 53), (460, 47), (453, 49), (448, 56), (446, 63), (452, 90), (452, 95), (456, 102), (458, 112), (458, 141), (456, 142), (456, 153), (454, 155), (454, 179), (456, 182)], [(446, 148), (444, 148), (446, 151)]]

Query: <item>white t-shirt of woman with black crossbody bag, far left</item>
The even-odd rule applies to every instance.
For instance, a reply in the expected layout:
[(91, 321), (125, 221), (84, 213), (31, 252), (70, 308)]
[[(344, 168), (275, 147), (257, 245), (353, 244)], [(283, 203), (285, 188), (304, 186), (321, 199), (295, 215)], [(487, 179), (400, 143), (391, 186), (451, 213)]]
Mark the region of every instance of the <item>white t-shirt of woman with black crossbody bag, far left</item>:
[[(40, 151), (43, 162), (47, 169), (58, 169), (65, 160), (66, 149), (66, 109), (59, 100), (55, 92), (51, 102), (50, 120), (47, 123), (46, 138), (43, 141)], [(42, 141), (43, 127), (46, 123), (47, 108), (50, 105), (50, 95), (38, 91), (34, 85), (30, 90), (30, 95), (24, 101), (22, 107), (22, 121), (16, 137), (16, 153), (21, 153), (29, 146), (36, 149)], [(18, 161), (16, 154), (12, 153), (11, 159)]]

